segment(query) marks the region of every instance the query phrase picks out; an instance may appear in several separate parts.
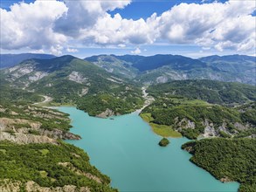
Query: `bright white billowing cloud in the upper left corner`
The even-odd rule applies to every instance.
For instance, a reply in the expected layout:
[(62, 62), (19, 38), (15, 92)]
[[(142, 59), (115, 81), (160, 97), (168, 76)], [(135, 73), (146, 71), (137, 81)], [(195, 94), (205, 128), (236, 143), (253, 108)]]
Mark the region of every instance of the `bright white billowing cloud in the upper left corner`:
[(40, 50), (66, 42), (66, 36), (52, 30), (53, 23), (65, 14), (65, 3), (52, 0), (15, 3), (10, 10), (0, 9), (1, 48)]

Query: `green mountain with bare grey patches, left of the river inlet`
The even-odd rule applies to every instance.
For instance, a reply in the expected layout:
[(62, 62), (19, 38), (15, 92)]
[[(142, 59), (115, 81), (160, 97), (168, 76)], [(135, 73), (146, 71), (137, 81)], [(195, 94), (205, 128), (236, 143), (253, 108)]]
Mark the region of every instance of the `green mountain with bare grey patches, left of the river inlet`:
[(53, 103), (75, 104), (100, 117), (130, 113), (143, 104), (141, 89), (127, 79), (68, 55), (25, 60), (3, 70), (1, 79), (8, 87), (51, 97)]

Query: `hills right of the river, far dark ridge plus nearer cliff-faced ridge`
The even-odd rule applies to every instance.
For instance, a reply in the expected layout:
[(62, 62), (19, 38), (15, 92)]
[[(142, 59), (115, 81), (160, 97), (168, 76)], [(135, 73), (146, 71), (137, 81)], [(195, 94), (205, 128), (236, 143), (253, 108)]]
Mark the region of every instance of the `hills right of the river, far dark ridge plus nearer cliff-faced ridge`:
[(165, 132), (178, 131), (190, 139), (256, 137), (255, 86), (178, 80), (147, 91), (155, 101), (140, 115), (152, 127), (169, 127)]

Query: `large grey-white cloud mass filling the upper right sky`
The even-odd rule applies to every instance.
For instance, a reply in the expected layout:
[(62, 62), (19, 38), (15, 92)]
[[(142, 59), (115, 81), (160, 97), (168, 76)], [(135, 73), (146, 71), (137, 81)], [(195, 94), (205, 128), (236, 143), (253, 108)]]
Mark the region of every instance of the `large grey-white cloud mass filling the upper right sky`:
[(181, 3), (156, 17), (156, 29), (173, 44), (249, 50), (255, 46), (255, 9), (253, 1)]

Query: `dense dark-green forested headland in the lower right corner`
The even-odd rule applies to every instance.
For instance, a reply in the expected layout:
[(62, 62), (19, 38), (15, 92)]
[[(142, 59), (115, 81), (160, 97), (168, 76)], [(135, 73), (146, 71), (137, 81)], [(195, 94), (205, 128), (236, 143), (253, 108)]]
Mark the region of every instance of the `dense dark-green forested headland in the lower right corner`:
[(190, 161), (222, 182), (240, 182), (239, 191), (255, 191), (255, 139), (204, 139), (185, 143), (182, 148), (193, 155)]

